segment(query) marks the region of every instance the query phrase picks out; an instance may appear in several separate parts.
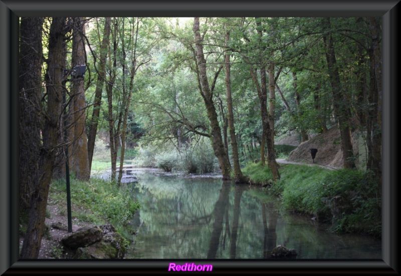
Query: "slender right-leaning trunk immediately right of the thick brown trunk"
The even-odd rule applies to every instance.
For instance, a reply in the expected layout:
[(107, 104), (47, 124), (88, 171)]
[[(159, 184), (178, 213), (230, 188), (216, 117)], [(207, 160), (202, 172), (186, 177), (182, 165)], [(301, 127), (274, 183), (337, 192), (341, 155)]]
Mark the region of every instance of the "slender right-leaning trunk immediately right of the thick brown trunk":
[(98, 126), (98, 122), (99, 122), (100, 103), (102, 101), (103, 83), (106, 78), (105, 65), (106, 65), (106, 59), (107, 59), (107, 47), (109, 45), (110, 24), (111, 24), (111, 18), (106, 17), (105, 22), (104, 22), (103, 40), (102, 40), (102, 44), (100, 46), (99, 69), (97, 70), (95, 100), (93, 103), (92, 118), (91, 118), (91, 124), (89, 126), (89, 134), (88, 134), (89, 171), (92, 169), (93, 150), (95, 148), (96, 132), (97, 132), (97, 126)]

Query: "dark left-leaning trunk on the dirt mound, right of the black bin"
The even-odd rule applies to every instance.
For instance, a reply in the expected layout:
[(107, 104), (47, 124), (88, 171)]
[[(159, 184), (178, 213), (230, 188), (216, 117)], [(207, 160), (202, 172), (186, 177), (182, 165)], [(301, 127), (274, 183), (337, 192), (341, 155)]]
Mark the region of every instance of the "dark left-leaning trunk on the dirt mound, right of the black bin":
[[(324, 24), (327, 30), (330, 30), (330, 19), (325, 18)], [(323, 41), (326, 50), (326, 60), (328, 66), (329, 79), (332, 89), (333, 96), (333, 107), (334, 113), (338, 119), (338, 127), (341, 135), (341, 150), (342, 158), (345, 169), (354, 169), (355, 160), (352, 149), (352, 137), (351, 137), (351, 126), (350, 126), (350, 110), (349, 105), (344, 98), (341, 91), (340, 75), (338, 73), (338, 65), (335, 58), (333, 38), (331, 33), (323, 36)]]

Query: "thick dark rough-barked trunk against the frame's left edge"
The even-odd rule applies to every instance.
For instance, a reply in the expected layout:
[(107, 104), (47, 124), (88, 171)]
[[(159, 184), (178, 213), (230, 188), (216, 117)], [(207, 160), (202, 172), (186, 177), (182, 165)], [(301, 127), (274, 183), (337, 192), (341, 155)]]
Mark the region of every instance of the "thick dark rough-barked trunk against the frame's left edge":
[(41, 147), (42, 31), (44, 18), (21, 18), (20, 27), (20, 214), (28, 217), (31, 196), (38, 185), (37, 159)]

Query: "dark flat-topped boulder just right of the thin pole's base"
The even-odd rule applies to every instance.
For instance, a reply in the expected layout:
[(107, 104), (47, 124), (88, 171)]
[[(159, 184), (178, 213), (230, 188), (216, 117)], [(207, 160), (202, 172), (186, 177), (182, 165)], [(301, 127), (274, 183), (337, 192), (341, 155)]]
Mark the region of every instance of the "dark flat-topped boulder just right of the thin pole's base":
[(91, 245), (103, 237), (103, 230), (98, 226), (82, 227), (69, 236), (61, 239), (68, 248), (76, 250), (78, 247)]

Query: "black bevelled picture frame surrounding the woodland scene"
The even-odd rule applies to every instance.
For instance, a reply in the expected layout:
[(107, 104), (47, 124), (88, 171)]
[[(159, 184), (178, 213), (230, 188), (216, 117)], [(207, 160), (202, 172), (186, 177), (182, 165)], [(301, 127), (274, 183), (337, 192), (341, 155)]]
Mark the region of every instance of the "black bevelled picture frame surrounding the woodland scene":
[[(23, 16), (382, 17), (382, 260), (18, 260), (18, 18)], [(0, 0), (0, 274), (170, 273), (169, 262), (213, 264), (214, 274), (397, 274), (398, 1), (97, 2)]]

